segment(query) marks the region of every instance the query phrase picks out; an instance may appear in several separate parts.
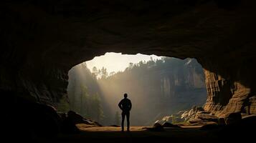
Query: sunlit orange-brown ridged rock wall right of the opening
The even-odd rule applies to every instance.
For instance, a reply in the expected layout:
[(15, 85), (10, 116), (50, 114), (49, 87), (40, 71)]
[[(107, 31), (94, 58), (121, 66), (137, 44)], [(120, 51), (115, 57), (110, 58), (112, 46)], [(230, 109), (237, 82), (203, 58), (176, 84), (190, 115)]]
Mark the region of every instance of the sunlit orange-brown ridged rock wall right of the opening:
[[(250, 87), (240, 82), (231, 82), (207, 70), (205, 74), (208, 98), (204, 109), (214, 112), (219, 117), (232, 112), (255, 113), (255, 94)], [(245, 74), (250, 78), (250, 74)]]

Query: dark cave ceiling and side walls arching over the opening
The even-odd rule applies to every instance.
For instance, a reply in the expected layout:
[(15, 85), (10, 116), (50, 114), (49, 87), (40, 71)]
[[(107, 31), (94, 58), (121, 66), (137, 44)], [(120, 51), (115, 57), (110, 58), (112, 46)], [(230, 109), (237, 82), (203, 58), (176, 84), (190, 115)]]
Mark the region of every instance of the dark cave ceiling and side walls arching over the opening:
[(194, 57), (205, 69), (205, 110), (255, 114), (255, 3), (1, 1), (1, 93), (54, 106), (67, 71), (106, 51)]

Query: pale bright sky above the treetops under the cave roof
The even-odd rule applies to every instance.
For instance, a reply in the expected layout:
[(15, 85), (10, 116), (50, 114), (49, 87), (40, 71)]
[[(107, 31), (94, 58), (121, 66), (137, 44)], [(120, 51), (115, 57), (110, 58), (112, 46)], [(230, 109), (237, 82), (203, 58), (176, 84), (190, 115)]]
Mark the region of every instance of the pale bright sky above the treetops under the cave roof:
[(103, 66), (107, 68), (108, 73), (112, 71), (124, 71), (129, 63), (138, 63), (139, 61), (148, 61), (151, 59), (161, 59), (161, 56), (145, 55), (145, 54), (121, 54), (121, 53), (106, 53), (103, 56), (95, 56), (94, 59), (86, 61), (87, 67), (92, 71), (93, 66), (101, 69)]

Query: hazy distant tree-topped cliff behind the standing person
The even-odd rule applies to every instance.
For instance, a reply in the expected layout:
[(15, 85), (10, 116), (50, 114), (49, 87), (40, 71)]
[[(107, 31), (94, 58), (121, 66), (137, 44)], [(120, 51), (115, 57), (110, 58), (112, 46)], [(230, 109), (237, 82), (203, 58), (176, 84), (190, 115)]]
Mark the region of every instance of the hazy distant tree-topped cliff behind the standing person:
[(98, 83), (113, 112), (118, 111), (116, 104), (123, 93), (128, 93), (133, 102), (131, 118), (139, 125), (157, 116), (202, 106), (207, 100), (204, 81), (204, 70), (195, 59), (166, 58), (133, 64)]

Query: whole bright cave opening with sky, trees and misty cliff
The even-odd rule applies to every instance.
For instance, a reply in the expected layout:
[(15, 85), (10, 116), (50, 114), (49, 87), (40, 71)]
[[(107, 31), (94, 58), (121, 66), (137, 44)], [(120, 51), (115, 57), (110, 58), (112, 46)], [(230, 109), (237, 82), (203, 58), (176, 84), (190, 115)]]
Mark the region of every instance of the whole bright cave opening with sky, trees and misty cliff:
[(204, 80), (196, 59), (106, 53), (70, 69), (70, 104), (63, 100), (59, 109), (73, 110), (106, 126), (119, 125), (118, 102), (127, 93), (133, 103), (131, 126), (149, 126), (165, 116), (203, 106)]

